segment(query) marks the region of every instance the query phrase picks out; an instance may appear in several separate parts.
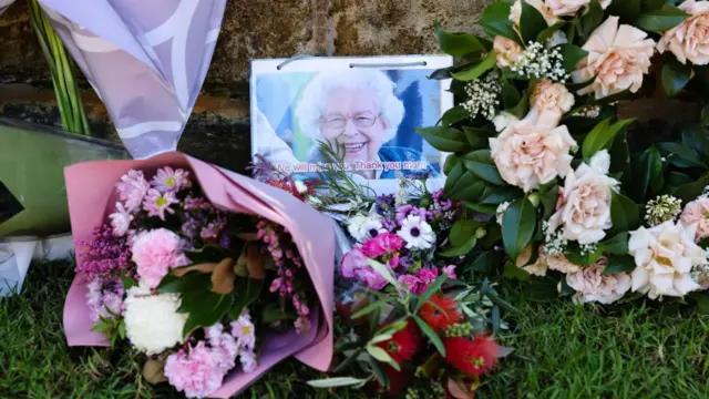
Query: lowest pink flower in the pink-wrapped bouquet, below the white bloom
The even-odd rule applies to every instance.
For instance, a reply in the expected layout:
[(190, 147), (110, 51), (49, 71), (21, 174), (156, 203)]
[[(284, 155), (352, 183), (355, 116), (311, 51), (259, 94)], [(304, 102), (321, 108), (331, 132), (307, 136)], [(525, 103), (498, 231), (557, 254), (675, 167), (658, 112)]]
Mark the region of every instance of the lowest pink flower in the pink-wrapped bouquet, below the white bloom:
[(213, 351), (204, 341), (189, 348), (189, 355), (181, 349), (165, 361), (165, 377), (169, 385), (184, 391), (187, 398), (204, 398), (222, 386), (226, 370), (220, 368)]

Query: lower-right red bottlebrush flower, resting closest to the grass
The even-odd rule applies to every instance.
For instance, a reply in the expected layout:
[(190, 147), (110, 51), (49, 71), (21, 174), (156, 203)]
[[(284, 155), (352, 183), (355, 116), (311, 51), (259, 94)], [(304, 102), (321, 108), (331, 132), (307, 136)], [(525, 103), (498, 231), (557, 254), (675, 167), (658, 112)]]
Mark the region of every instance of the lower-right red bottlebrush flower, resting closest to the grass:
[(470, 377), (483, 375), (497, 364), (497, 342), (486, 335), (445, 338), (443, 346), (445, 361)]

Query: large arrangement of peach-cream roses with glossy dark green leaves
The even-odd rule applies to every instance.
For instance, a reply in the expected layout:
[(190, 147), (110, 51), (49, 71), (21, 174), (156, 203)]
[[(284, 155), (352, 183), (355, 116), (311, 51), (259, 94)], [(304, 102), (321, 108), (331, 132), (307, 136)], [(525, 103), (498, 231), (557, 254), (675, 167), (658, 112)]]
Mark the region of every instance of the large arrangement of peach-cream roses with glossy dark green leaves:
[(451, 250), (541, 299), (708, 305), (709, 132), (634, 135), (616, 115), (651, 71), (666, 96), (701, 101), (709, 2), (496, 1), (480, 24), (489, 37), (438, 29), (459, 62), (432, 78), (452, 78), (459, 105), (419, 130), (451, 153), (444, 195), (475, 213)]

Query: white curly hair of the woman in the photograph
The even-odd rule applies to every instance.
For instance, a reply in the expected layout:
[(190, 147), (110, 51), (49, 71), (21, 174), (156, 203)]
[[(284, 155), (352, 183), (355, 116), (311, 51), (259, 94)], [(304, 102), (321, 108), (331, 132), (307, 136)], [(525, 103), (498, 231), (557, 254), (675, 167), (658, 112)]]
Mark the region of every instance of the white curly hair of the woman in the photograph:
[(382, 139), (382, 143), (386, 143), (397, 135), (404, 113), (403, 102), (394, 94), (395, 86), (387, 74), (378, 70), (321, 72), (308, 82), (296, 109), (300, 131), (309, 137), (321, 140), (320, 119), (323, 116), (328, 93), (333, 89), (364, 89), (373, 93), (379, 117), (387, 126)]

